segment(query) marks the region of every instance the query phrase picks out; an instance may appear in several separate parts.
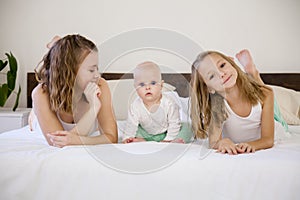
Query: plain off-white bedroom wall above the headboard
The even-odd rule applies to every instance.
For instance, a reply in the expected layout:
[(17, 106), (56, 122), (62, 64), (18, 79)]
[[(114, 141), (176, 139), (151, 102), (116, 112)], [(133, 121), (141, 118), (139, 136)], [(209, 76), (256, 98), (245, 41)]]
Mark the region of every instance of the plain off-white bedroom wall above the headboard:
[[(261, 72), (299, 72), (299, 10), (298, 0), (1, 0), (0, 53), (12, 51), (18, 58), (20, 107), (26, 106), (26, 73), (56, 34), (80, 33), (101, 44), (126, 31), (156, 27), (184, 35), (205, 50), (234, 55), (248, 48)], [(190, 70), (178, 56), (153, 50), (127, 54), (105, 70), (130, 71), (145, 59), (178, 72)]]

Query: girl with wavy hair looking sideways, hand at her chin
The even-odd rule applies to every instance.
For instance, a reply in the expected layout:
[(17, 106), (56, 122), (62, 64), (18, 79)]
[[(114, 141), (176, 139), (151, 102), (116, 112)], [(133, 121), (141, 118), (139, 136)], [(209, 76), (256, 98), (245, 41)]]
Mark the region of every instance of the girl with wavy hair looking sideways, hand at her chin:
[[(117, 141), (110, 90), (98, 72), (93, 42), (68, 35), (56, 39), (36, 70), (31, 124), (49, 145), (90, 145)], [(96, 136), (92, 133), (98, 132)]]

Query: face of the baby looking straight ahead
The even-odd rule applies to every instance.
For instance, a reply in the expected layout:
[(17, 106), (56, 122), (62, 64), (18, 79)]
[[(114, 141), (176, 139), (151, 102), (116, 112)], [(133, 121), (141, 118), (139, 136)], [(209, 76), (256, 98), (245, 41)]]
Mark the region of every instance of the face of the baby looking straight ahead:
[(161, 98), (163, 81), (156, 72), (140, 71), (135, 76), (134, 86), (144, 103), (156, 103)]

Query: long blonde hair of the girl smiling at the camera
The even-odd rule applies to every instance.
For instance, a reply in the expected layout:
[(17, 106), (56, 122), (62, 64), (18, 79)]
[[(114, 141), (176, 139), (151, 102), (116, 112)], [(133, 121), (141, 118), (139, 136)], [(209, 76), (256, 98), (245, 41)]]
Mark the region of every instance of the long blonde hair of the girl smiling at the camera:
[(221, 56), (236, 69), (236, 84), (241, 91), (242, 98), (251, 105), (256, 105), (259, 101), (263, 101), (265, 95), (262, 88), (267, 88), (244, 73), (232, 59), (224, 54), (216, 51), (200, 53), (192, 64), (190, 82), (191, 120), (192, 128), (197, 138), (206, 138), (208, 136), (209, 125), (212, 122), (217, 126), (221, 126), (228, 117), (223, 97), (218, 93), (209, 93), (206, 83), (198, 72), (203, 59), (212, 54)]

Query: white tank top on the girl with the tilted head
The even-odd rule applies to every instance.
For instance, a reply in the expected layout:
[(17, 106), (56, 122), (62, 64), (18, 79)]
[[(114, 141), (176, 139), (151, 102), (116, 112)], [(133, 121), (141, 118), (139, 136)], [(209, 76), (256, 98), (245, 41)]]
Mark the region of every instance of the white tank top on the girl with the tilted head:
[(223, 123), (223, 138), (229, 138), (234, 143), (259, 139), (261, 137), (261, 104), (252, 106), (247, 117), (241, 117), (233, 112), (226, 100), (224, 102), (228, 110), (228, 119)]

